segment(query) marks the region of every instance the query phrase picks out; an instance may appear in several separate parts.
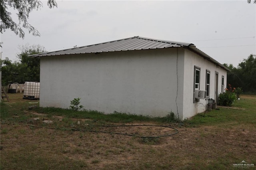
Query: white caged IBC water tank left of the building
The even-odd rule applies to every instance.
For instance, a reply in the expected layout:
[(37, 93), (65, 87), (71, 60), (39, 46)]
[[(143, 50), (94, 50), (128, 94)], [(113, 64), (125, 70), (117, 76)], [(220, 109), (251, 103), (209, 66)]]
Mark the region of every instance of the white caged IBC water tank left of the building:
[(24, 83), (23, 98), (26, 99), (39, 99), (40, 83), (39, 82), (28, 82)]

